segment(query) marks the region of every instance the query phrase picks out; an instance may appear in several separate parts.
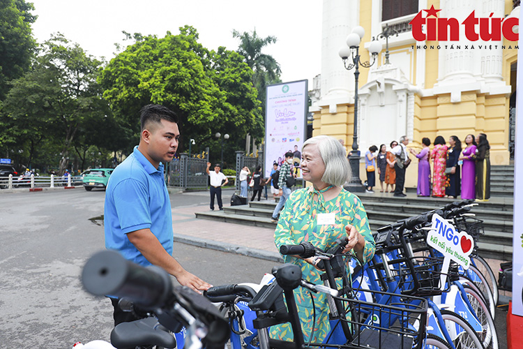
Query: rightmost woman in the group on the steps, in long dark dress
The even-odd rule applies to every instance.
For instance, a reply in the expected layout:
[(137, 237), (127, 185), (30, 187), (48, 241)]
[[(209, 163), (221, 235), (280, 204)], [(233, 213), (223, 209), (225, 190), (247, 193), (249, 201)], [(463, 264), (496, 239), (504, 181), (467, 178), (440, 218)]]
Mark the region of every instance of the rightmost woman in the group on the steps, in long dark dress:
[(476, 136), (478, 149), (476, 160), (476, 200), (488, 201), (490, 199), (490, 144), (485, 133)]

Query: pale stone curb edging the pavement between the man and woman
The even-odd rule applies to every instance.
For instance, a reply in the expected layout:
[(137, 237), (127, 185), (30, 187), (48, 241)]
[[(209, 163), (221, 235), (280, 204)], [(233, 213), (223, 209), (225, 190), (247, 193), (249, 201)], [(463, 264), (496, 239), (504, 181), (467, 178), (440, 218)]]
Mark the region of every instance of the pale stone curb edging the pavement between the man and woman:
[(280, 253), (259, 250), (257, 248), (248, 248), (245, 246), (238, 246), (227, 244), (227, 242), (217, 242), (213, 240), (200, 239), (199, 237), (191, 237), (189, 235), (174, 235), (174, 242), (181, 242), (197, 247), (211, 248), (213, 250), (236, 253), (238, 255), (246, 255), (252, 258), (259, 258), (261, 260), (271, 260), (273, 262), (283, 263)]

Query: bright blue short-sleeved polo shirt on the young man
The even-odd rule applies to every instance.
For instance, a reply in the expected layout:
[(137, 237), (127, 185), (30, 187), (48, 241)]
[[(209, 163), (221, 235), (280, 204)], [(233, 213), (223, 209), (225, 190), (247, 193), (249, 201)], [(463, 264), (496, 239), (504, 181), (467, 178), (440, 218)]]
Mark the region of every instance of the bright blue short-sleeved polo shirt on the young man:
[(127, 260), (151, 265), (129, 242), (128, 232), (149, 228), (165, 251), (172, 255), (171, 202), (163, 177), (140, 153), (138, 147), (118, 165), (109, 177), (105, 192), (105, 247), (119, 251)]

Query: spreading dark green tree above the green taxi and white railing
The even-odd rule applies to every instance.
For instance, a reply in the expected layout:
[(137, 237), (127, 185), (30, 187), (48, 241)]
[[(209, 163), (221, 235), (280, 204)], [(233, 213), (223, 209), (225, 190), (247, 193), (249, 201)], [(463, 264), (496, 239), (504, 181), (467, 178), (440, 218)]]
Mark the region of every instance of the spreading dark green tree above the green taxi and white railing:
[(96, 82), (100, 65), (59, 34), (43, 44), (31, 71), (13, 81), (0, 123), (8, 126), (6, 142), (31, 145), (28, 165), (40, 143), (54, 143), (63, 172), (78, 131), (103, 122), (109, 109)]

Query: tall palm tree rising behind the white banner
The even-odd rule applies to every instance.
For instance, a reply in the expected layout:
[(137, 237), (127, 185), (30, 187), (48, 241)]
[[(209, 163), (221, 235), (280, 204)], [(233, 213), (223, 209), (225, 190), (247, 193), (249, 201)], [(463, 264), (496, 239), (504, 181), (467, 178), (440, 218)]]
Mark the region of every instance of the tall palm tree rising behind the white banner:
[(245, 63), (254, 72), (252, 74), (252, 83), (258, 90), (258, 98), (261, 101), (261, 106), (265, 110), (265, 88), (270, 84), (277, 84), (281, 82), (280, 75), (282, 70), (280, 64), (270, 54), (264, 54), (261, 50), (267, 45), (276, 42), (275, 36), (267, 36), (260, 38), (256, 30), (248, 33), (244, 31), (232, 31), (234, 38), (240, 39), (238, 53), (245, 57)]

